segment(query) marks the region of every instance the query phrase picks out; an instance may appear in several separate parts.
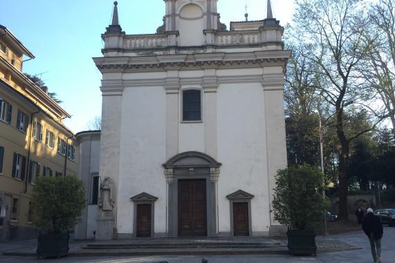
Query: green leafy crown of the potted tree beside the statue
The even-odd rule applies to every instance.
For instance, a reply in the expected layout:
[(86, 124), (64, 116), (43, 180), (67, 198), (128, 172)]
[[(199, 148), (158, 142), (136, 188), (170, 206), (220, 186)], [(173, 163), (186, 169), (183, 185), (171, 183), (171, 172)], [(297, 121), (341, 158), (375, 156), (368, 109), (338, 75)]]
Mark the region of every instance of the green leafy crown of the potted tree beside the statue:
[(80, 221), (85, 203), (84, 183), (77, 176), (38, 176), (32, 194), (33, 225), (52, 233)]

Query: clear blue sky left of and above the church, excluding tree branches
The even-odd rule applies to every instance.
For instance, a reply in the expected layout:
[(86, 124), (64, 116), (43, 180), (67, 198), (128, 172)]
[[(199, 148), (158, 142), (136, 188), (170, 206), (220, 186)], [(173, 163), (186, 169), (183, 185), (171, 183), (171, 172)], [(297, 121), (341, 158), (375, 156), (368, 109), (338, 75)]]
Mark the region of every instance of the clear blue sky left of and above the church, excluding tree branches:
[[(271, 0), (273, 17), (282, 26), (291, 22), (293, 0)], [(102, 74), (92, 57), (102, 57), (101, 34), (111, 24), (113, 0), (8, 0), (2, 1), (0, 24), (6, 26), (34, 60), (24, 62), (23, 72), (37, 75), (57, 93), (60, 106), (71, 118), (64, 124), (77, 133), (101, 116)], [(266, 18), (266, 0), (219, 0), (221, 23)], [(163, 0), (118, 0), (118, 17), (127, 35), (152, 34), (162, 26)], [(28, 57), (24, 57), (24, 60)]]

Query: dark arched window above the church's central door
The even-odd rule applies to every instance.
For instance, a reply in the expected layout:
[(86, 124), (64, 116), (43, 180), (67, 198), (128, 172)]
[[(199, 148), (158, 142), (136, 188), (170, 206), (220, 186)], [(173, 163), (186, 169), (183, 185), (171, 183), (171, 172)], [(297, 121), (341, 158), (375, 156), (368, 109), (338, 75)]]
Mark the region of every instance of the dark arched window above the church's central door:
[(201, 120), (201, 91), (183, 91), (183, 120)]

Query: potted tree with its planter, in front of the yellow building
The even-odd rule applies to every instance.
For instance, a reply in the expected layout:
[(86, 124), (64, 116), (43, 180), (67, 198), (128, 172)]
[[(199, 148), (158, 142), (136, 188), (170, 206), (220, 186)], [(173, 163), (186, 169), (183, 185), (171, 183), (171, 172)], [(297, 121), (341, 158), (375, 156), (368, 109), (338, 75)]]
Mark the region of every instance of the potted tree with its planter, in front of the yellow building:
[(37, 258), (68, 253), (68, 230), (80, 221), (84, 183), (77, 176), (39, 176), (32, 194), (33, 225), (39, 228)]

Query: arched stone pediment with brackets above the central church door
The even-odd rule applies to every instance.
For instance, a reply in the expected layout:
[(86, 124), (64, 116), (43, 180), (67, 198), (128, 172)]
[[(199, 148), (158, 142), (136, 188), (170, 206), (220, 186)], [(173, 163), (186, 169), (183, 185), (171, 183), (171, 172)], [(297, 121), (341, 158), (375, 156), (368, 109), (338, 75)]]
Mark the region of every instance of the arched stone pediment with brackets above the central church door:
[[(216, 183), (219, 177), (221, 163), (201, 152), (183, 152), (177, 154), (163, 164), (167, 183), (173, 183), (176, 174), (198, 175), (202, 170), (210, 169), (210, 181)], [(176, 169), (176, 170), (174, 170)]]

